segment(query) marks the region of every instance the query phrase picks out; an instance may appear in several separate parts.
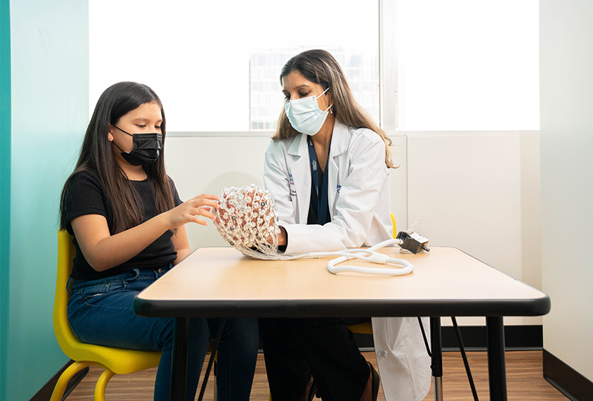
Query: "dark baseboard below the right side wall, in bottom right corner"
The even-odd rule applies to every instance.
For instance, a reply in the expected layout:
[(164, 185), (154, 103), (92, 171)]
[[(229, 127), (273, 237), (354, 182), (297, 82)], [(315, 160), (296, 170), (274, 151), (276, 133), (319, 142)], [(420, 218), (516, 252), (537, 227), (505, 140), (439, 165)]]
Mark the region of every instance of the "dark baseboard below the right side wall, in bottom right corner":
[(544, 378), (568, 399), (573, 401), (593, 400), (593, 382), (547, 350), (543, 352), (543, 367)]

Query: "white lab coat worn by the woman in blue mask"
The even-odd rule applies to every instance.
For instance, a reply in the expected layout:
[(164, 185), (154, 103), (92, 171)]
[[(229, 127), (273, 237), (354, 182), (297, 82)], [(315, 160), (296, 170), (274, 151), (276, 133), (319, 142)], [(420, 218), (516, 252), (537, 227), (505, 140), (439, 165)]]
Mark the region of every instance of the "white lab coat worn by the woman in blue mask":
[[(263, 182), (288, 234), (287, 254), (372, 246), (391, 238), (389, 170), (375, 132), (336, 120), (326, 174), (332, 222), (306, 225), (311, 167), (305, 134), (271, 141)], [(428, 319), (422, 319), (429, 335)], [(373, 317), (377, 364), (387, 401), (422, 400), (431, 383), (430, 358), (415, 317)], [(430, 339), (429, 339), (430, 340)]]

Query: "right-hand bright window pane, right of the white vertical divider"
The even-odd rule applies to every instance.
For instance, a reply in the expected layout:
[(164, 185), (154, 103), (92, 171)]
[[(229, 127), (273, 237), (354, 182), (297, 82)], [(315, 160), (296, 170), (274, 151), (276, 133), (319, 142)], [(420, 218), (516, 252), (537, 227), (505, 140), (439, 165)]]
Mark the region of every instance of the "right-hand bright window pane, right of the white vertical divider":
[(537, 0), (398, 0), (404, 130), (539, 129)]

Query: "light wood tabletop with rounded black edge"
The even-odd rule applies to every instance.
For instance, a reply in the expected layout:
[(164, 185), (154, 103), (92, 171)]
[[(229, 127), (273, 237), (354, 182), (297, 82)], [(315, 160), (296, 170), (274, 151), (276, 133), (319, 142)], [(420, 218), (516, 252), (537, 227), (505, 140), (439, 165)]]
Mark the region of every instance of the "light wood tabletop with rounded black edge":
[(138, 295), (134, 310), (167, 317), (531, 316), (549, 311), (545, 293), (457, 248), (417, 255), (399, 248), (381, 252), (408, 260), (414, 271), (405, 276), (332, 274), (330, 257), (254, 260), (235, 248), (200, 248)]

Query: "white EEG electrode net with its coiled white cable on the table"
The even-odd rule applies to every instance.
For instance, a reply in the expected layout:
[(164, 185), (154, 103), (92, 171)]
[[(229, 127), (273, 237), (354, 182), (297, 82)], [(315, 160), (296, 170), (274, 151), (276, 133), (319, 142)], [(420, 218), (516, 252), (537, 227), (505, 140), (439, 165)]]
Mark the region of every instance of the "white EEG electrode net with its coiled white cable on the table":
[[(371, 248), (346, 249), (335, 252), (312, 252), (301, 255), (278, 253), (278, 213), (268, 190), (251, 184), (235, 188), (223, 188), (219, 196), (219, 209), (213, 210), (214, 224), (221, 236), (243, 255), (263, 260), (292, 260), (308, 257), (337, 256), (327, 262), (327, 269), (339, 272), (359, 272), (401, 276), (409, 274), (414, 266), (407, 260), (395, 259), (375, 252), (391, 244), (401, 245), (400, 238), (392, 238), (378, 243)], [(336, 266), (351, 259), (360, 259), (381, 265), (396, 265), (396, 269), (372, 268), (360, 266)]]

